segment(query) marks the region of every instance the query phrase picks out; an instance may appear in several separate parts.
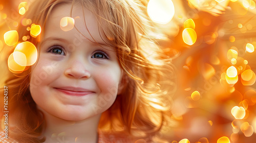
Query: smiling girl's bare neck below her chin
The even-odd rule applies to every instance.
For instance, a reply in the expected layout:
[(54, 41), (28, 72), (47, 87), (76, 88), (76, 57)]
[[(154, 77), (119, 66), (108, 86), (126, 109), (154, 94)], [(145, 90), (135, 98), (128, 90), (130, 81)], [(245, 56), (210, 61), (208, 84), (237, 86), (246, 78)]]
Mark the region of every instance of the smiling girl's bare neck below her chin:
[(67, 121), (44, 112), (46, 143), (51, 142), (97, 142), (100, 114), (83, 121)]

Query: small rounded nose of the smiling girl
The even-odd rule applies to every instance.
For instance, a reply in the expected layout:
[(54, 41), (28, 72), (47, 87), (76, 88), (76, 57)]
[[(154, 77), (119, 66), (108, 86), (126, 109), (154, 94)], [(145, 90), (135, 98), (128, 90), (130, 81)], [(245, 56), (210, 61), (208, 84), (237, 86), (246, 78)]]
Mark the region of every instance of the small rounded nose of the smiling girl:
[(71, 65), (65, 70), (65, 75), (71, 78), (89, 78), (91, 73), (84, 64), (80, 62), (73, 62)]

